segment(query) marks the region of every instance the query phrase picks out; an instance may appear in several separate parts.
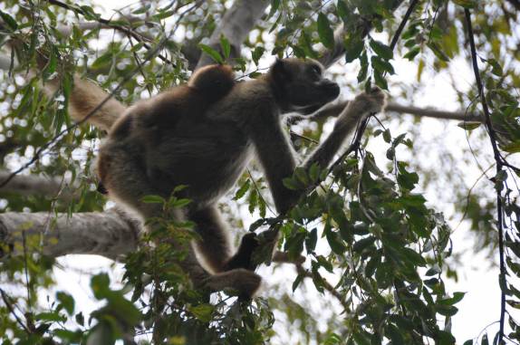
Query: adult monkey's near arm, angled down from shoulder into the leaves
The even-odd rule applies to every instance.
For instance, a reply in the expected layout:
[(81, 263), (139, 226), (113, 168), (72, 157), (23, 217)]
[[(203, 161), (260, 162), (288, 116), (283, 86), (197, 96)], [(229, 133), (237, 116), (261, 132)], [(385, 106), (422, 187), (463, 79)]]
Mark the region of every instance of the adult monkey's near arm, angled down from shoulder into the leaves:
[[(267, 113), (263, 113), (264, 118)], [(283, 183), (285, 177), (293, 175), (296, 167), (293, 148), (277, 117), (258, 120), (251, 129), (251, 138), (264, 168), (274, 198), (274, 206), (279, 213), (284, 213), (293, 206), (298, 197), (294, 190), (284, 187)]]

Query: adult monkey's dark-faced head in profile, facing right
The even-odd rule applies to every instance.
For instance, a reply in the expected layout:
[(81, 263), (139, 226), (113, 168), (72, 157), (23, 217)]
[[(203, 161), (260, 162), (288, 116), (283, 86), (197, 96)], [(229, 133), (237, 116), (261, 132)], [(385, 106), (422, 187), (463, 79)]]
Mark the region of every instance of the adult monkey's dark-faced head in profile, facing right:
[(334, 81), (323, 78), (323, 66), (312, 59), (276, 60), (268, 78), (284, 112), (310, 114), (340, 94)]

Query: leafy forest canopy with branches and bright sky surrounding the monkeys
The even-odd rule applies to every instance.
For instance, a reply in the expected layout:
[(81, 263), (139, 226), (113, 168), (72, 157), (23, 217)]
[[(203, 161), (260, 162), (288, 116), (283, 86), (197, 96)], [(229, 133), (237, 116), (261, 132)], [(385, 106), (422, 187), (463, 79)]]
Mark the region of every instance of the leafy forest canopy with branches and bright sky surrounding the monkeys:
[[(519, 343), (518, 13), (518, 0), (4, 0), (3, 344)], [(162, 219), (163, 234), (145, 232), (96, 190), (107, 133), (72, 120), (74, 76), (130, 105), (208, 64), (246, 81), (285, 57), (321, 62), (342, 86), (313, 115), (287, 116), (298, 157), (362, 91), (379, 87), (388, 108), (358, 124), (331, 167), (284, 179), (303, 194), (285, 214), (260, 165), (246, 168), (218, 206), (234, 243), (279, 234), (294, 263), (258, 250), (255, 298), (208, 296), (179, 266), (183, 253), (158, 240), (188, 246), (193, 224)], [(190, 201), (178, 190), (145, 202), (182, 208)], [(471, 291), (449, 287), (472, 264), (467, 253), (496, 272), (500, 308), (490, 327), (456, 340), (457, 305)], [(70, 254), (115, 263), (81, 273), (92, 311), (57, 282), (57, 270), (78, 274), (63, 265)]]

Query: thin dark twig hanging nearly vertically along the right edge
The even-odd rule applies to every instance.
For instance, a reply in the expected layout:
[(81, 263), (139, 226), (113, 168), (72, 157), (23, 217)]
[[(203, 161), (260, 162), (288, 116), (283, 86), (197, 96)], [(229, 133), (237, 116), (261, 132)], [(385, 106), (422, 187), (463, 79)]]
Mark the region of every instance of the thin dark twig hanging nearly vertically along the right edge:
[[(469, 47), (471, 49), (471, 62), (473, 64), (473, 72), (475, 73), (475, 80), (478, 87), (478, 96), (482, 103), (482, 110), (484, 110), (485, 124), (487, 133), (489, 134), (489, 140), (491, 141), (491, 147), (493, 148), (493, 154), (496, 161), (496, 174), (498, 175), (504, 167), (504, 160), (500, 156), (498, 145), (496, 144), (496, 132), (493, 129), (491, 123), (491, 116), (489, 115), (489, 109), (487, 108), (486, 94), (484, 93), (484, 87), (482, 80), (480, 79), (480, 72), (478, 71), (477, 63), (477, 49), (475, 48), (475, 38), (473, 35), (473, 27), (471, 25), (471, 14), (468, 9), (464, 10), (467, 24), (467, 35), (469, 38)], [(506, 263), (504, 253), (504, 227), (503, 227), (503, 210), (502, 210), (502, 197), (500, 190), (496, 190), (496, 213), (498, 223), (498, 254), (499, 254), (499, 265), (500, 275), (498, 277), (500, 286), (500, 329), (498, 331), (498, 343), (504, 343), (504, 322), (506, 320)]]

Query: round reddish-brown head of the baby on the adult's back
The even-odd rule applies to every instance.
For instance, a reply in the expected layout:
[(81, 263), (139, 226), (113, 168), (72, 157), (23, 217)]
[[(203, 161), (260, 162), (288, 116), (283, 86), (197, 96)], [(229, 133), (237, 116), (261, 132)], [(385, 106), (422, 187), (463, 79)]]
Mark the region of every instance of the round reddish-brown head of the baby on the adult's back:
[(208, 101), (217, 101), (235, 85), (233, 69), (228, 65), (212, 64), (193, 73), (188, 86), (204, 94)]

